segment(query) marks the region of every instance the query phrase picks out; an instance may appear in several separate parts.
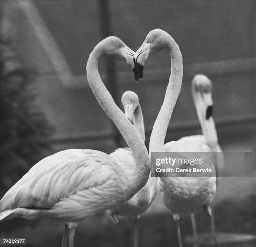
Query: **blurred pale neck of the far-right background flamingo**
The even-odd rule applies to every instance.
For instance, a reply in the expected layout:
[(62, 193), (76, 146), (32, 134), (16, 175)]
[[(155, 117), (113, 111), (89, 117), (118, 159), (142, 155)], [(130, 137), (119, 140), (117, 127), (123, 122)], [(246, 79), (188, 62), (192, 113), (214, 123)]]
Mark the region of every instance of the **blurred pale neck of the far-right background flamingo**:
[(206, 120), (206, 107), (200, 92), (194, 92), (192, 95), (197, 110), (197, 117), (200, 122), (202, 134), (205, 137), (206, 144), (210, 147), (212, 152), (218, 152), (218, 135), (213, 117)]

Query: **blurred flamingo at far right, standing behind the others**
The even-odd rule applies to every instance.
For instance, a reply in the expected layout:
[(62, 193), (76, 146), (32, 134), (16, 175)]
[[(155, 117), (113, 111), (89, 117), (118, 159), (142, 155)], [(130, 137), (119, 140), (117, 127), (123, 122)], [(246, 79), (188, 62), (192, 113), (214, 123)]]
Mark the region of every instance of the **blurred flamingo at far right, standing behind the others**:
[[(192, 80), (192, 97), (197, 110), (197, 117), (199, 119), (203, 135), (194, 135), (191, 138), (198, 138), (206, 142), (206, 144), (212, 150), (212, 154), (215, 159), (215, 168), (217, 177), (221, 176), (221, 171), (224, 168), (224, 157), (223, 152), (218, 144), (218, 135), (215, 128), (215, 123), (212, 117), (212, 82), (210, 79), (202, 74), (197, 74)], [(217, 179), (218, 181), (218, 179)], [(191, 214), (192, 228), (194, 241), (197, 239), (197, 229), (195, 222), (195, 214)], [(214, 224), (214, 215), (212, 212), (211, 217), (211, 237), (212, 237), (212, 246), (217, 244), (216, 242), (216, 233), (215, 233), (215, 224)], [(194, 244), (196, 247), (197, 244)]]

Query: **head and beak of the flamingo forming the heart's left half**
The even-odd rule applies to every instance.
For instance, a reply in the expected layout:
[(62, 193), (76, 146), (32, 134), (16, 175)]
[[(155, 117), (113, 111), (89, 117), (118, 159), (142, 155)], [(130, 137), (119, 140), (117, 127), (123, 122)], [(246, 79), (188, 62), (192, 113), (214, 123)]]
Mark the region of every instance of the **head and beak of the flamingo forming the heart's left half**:
[(101, 56), (108, 55), (114, 56), (115, 59), (119, 60), (125, 59), (127, 64), (133, 69), (135, 79), (138, 78), (137, 70), (134, 69), (135, 65), (133, 63), (134, 51), (126, 46), (120, 38), (109, 36), (103, 39), (98, 46), (100, 46), (100, 50), (102, 51)]

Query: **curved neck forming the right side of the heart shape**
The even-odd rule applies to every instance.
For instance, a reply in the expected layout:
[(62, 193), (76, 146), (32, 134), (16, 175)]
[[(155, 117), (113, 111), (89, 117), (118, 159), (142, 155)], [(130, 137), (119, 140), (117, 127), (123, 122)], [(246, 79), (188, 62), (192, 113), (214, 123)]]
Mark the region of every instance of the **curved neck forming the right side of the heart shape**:
[(172, 66), (169, 83), (164, 96), (164, 102), (154, 123), (149, 142), (149, 153), (161, 152), (164, 149), (164, 139), (172, 117), (172, 112), (179, 96), (182, 85), (183, 64), (182, 54), (174, 39), (169, 36), (168, 49), (170, 51)]

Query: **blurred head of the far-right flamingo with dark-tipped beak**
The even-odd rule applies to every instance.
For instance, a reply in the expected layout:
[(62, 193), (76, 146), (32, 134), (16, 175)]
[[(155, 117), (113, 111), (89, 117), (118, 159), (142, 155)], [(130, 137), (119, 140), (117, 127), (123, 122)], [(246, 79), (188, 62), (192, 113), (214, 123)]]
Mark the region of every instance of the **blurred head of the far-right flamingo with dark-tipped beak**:
[(212, 117), (213, 101), (212, 101), (212, 82), (210, 79), (202, 74), (195, 75), (192, 80), (192, 96), (196, 100), (200, 98), (202, 102), (202, 110), (205, 112), (206, 120)]

